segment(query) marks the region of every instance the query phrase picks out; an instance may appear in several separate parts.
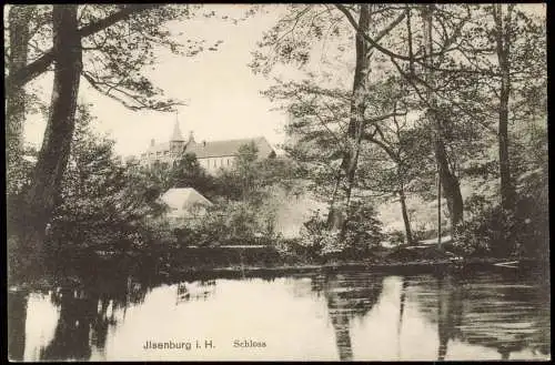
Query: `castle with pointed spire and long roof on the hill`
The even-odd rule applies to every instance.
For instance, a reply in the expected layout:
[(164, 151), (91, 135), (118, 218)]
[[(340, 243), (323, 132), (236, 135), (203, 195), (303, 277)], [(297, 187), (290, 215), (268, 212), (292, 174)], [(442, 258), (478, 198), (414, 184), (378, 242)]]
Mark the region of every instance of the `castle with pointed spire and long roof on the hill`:
[(149, 149), (141, 154), (141, 164), (153, 165), (160, 163), (163, 166), (171, 166), (184, 153), (193, 153), (200, 165), (211, 174), (215, 174), (220, 169), (230, 169), (239, 156), (239, 149), (254, 142), (258, 148), (259, 159), (274, 158), (275, 151), (264, 136), (223, 141), (196, 142), (193, 133), (189, 133), (185, 140), (181, 133), (179, 121), (175, 120), (173, 132), (168, 142), (155, 143), (151, 140)]

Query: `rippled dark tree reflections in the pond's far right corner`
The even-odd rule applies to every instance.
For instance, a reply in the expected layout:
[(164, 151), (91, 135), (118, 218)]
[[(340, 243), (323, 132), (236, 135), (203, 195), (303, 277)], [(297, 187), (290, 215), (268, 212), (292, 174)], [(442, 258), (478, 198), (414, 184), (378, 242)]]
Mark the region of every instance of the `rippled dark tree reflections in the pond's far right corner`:
[(420, 311), (437, 324), (438, 361), (454, 339), (494, 348), (501, 359), (524, 349), (551, 352), (549, 294), (537, 283), (492, 273), (464, 278), (445, 274), (411, 281), (410, 291)]

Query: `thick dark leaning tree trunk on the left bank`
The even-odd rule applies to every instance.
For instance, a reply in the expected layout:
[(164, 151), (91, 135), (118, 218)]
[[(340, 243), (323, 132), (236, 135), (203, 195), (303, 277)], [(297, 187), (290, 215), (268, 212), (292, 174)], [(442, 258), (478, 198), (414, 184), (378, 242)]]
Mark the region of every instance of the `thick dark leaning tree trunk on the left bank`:
[(46, 226), (51, 219), (54, 197), (60, 190), (69, 159), (82, 69), (77, 6), (53, 6), (52, 20), (57, 59), (51, 110), (33, 182), (26, 196), (26, 206), (22, 209), (24, 229), (20, 224), (21, 230), (18, 232), (28, 264), (21, 268), (32, 273), (41, 268)]

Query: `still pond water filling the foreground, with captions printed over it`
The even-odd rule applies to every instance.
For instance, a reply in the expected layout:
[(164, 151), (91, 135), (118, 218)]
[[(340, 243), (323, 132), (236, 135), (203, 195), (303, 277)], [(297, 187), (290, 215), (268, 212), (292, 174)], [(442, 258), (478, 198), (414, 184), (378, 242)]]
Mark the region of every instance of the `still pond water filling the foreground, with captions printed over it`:
[(24, 361), (551, 358), (549, 286), (533, 275), (121, 275), (9, 305)]

